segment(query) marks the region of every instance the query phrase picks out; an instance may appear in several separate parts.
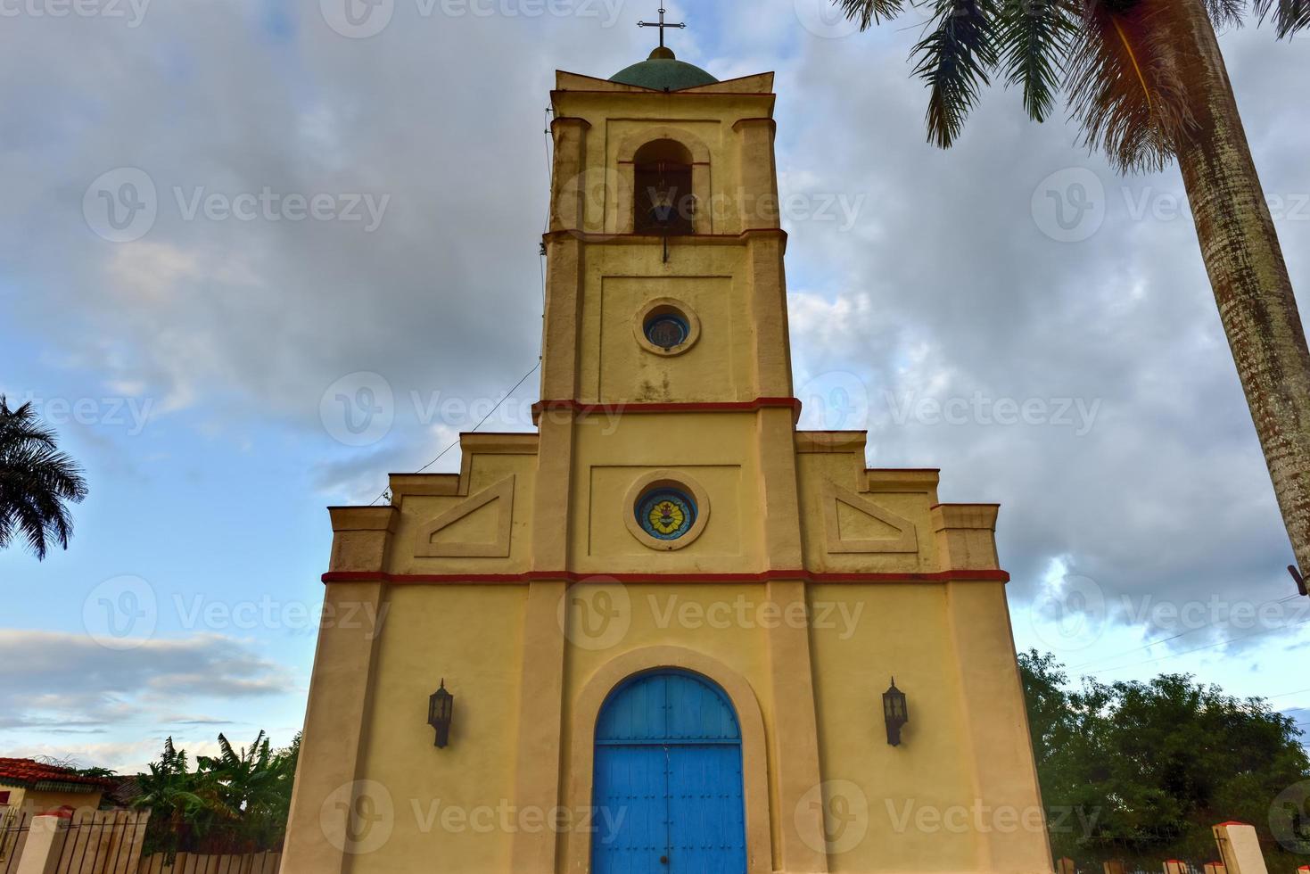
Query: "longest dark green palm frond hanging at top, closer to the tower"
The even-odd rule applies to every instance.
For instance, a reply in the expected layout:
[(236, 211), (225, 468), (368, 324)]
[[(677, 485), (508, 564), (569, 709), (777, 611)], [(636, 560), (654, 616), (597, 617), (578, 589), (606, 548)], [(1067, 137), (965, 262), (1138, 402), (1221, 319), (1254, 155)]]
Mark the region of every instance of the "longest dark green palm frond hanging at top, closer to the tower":
[(914, 75), (929, 89), (927, 139), (942, 148), (960, 135), (977, 104), (979, 86), (996, 69), (994, 0), (937, 0), (930, 33), (914, 46)]

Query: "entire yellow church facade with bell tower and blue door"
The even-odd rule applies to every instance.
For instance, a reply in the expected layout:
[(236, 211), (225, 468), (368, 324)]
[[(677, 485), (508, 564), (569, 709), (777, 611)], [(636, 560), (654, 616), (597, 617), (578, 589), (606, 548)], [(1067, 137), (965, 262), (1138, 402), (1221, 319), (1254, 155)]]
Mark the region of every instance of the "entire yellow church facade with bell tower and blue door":
[(537, 432), (331, 508), (282, 870), (1049, 871), (997, 506), (796, 430), (773, 75), (552, 102)]

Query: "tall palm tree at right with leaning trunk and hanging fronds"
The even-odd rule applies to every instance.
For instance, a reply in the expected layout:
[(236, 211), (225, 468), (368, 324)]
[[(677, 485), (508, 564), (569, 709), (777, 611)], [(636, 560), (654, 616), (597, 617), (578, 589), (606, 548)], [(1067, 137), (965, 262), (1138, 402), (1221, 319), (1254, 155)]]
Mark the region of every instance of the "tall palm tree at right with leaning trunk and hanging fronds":
[[(834, 0), (867, 29), (907, 0)], [(1310, 351), (1214, 25), (1244, 0), (908, 0), (929, 16), (914, 75), (927, 138), (959, 136), (993, 77), (1035, 121), (1065, 90), (1090, 148), (1121, 172), (1178, 159), (1201, 258), (1301, 570), (1310, 574)], [(1310, 0), (1251, 0), (1279, 38), (1310, 28)]]

